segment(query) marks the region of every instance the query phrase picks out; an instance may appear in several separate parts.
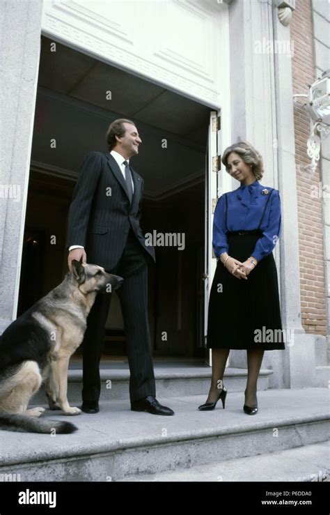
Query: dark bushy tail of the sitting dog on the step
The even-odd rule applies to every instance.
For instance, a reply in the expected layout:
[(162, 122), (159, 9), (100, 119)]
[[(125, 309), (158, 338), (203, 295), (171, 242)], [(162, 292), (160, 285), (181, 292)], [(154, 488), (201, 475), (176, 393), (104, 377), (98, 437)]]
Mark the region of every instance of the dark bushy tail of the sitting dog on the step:
[(22, 433), (68, 434), (77, 431), (77, 426), (62, 420), (40, 420), (28, 415), (0, 413), (0, 429)]

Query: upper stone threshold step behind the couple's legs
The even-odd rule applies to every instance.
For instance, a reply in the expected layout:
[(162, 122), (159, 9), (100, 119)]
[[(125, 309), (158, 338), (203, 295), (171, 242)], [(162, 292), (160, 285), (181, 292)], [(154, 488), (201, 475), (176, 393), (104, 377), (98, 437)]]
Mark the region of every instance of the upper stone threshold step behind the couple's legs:
[[(101, 400), (129, 399), (129, 369), (128, 365), (119, 368), (100, 369)], [(189, 366), (156, 366), (157, 397), (183, 397), (184, 395), (207, 395), (210, 390), (212, 370), (210, 367)], [(272, 370), (262, 369), (258, 379), (258, 389), (267, 390)], [(223, 383), (230, 392), (244, 392), (246, 387), (247, 370), (226, 368)], [(82, 370), (80, 368), (68, 371), (68, 399), (70, 403), (81, 403)], [(33, 403), (45, 403), (43, 386), (33, 398)]]

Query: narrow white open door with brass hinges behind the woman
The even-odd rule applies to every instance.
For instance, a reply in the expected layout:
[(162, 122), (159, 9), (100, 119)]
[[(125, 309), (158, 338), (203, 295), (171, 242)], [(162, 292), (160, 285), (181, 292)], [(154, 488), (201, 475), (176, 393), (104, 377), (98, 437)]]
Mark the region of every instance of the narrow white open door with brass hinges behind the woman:
[[(207, 336), (207, 312), (210, 290), (217, 260), (212, 249), (213, 213), (219, 198), (219, 170), (221, 166), (218, 149), (220, 144), (221, 116), (217, 111), (210, 112), (210, 126), (207, 139), (207, 154), (205, 159), (205, 259), (204, 259), (204, 342)], [(207, 349), (205, 360), (212, 366), (211, 351)]]

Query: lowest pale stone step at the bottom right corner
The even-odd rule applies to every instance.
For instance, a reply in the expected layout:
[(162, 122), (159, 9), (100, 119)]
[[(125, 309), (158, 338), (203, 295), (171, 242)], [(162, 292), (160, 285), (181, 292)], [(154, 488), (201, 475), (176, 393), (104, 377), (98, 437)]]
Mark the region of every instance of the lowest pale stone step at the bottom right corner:
[[(304, 445), (262, 456), (229, 459), (150, 475), (128, 476), (120, 482), (329, 482), (329, 442)], [(271, 491), (272, 489), (269, 489)]]

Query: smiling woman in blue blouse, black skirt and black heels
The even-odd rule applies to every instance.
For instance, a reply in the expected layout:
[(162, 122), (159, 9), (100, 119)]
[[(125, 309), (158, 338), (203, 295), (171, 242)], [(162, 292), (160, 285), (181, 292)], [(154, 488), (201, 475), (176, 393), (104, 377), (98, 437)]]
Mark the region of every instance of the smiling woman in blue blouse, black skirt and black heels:
[(223, 153), (228, 173), (240, 182), (223, 194), (214, 212), (212, 282), (207, 347), (212, 348), (212, 381), (199, 410), (212, 410), (226, 388), (223, 374), (230, 348), (246, 349), (248, 379), (244, 413), (258, 412), (257, 381), (264, 351), (284, 349), (276, 264), (272, 250), (281, 232), (278, 190), (261, 185), (262, 157), (239, 142)]

